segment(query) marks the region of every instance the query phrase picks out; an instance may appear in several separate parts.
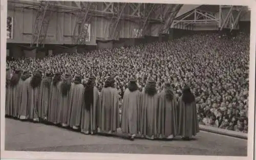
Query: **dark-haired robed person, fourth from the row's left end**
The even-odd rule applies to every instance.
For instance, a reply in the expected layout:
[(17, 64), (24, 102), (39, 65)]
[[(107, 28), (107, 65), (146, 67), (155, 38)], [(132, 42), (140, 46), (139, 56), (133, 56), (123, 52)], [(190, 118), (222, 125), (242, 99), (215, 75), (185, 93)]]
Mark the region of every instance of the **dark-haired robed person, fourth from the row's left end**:
[(30, 78), (30, 85), (28, 85), (28, 119), (34, 122), (39, 122), (38, 106), (39, 106), (39, 92), (42, 76), (37, 71)]

